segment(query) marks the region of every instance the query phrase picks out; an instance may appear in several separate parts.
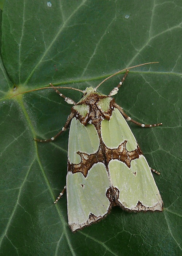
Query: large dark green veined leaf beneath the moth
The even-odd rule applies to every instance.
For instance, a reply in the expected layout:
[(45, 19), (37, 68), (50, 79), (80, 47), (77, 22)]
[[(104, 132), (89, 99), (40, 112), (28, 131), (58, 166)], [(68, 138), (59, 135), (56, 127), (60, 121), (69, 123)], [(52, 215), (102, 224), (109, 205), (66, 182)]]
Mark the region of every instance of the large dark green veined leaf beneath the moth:
[[(51, 4), (50, 4), (51, 3)], [(6, 0), (0, 60), (0, 255), (180, 255), (180, 1)], [(48, 6), (49, 5), (49, 6)], [(50, 7), (51, 5), (51, 7)], [(103, 221), (71, 233), (67, 224), (68, 131), (51, 138), (71, 111), (54, 90), (12, 95), (51, 82), (84, 90), (131, 69), (116, 102), (141, 123), (130, 124), (154, 174), (163, 212), (114, 207)], [(99, 87), (108, 94), (122, 74)], [(14, 88), (15, 87), (15, 88)], [(13, 90), (14, 88), (14, 90)], [(61, 90), (78, 101), (82, 95)]]

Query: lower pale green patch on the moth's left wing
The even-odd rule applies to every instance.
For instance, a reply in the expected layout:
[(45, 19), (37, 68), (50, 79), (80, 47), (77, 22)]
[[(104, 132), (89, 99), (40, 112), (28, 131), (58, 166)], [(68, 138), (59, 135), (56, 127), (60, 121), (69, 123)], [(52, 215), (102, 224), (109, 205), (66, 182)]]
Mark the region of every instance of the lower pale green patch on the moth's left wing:
[(103, 163), (96, 163), (87, 177), (81, 172), (67, 173), (68, 225), (72, 231), (102, 219), (108, 213), (110, 202), (106, 197), (110, 187)]

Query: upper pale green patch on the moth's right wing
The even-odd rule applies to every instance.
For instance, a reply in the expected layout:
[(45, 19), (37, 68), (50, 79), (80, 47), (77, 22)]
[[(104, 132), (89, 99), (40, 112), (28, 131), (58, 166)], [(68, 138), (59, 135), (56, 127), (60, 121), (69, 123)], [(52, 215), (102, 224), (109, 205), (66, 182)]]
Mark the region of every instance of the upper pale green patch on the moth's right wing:
[(117, 148), (121, 143), (127, 140), (126, 149), (128, 151), (137, 148), (137, 141), (132, 134), (128, 124), (118, 109), (112, 111), (110, 120), (102, 120), (101, 136), (104, 144), (108, 148)]

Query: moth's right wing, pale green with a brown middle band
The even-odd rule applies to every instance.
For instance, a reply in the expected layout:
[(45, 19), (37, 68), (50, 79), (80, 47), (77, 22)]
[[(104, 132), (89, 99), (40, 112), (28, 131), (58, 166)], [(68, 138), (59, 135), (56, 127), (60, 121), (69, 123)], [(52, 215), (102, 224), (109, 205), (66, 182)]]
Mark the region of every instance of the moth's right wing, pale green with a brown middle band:
[[(117, 157), (114, 157), (113, 153), (108, 163), (111, 184), (117, 196), (116, 203), (130, 211), (162, 211), (161, 195), (145, 157), (140, 153), (131, 160), (130, 153), (126, 154), (127, 150), (127, 152), (132, 151), (131, 155), (134, 155), (138, 145), (118, 109), (115, 108), (112, 111), (109, 121), (102, 121), (101, 136), (108, 148), (111, 148), (113, 152), (114, 149), (118, 151)], [(125, 152), (121, 150), (122, 146), (119, 147), (124, 141)], [(123, 154), (125, 154), (124, 157)], [(121, 161), (123, 158), (126, 162)]]

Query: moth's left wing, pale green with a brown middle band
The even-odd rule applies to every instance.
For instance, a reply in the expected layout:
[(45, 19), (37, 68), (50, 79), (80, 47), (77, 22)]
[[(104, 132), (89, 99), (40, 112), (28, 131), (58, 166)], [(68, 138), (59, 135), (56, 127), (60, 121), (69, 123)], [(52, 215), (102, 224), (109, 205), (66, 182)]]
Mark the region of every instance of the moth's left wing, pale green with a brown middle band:
[(102, 162), (92, 164), (99, 144), (94, 125), (84, 126), (78, 119), (72, 119), (66, 181), (68, 225), (72, 231), (102, 219), (110, 208), (106, 196), (110, 187), (106, 167)]

